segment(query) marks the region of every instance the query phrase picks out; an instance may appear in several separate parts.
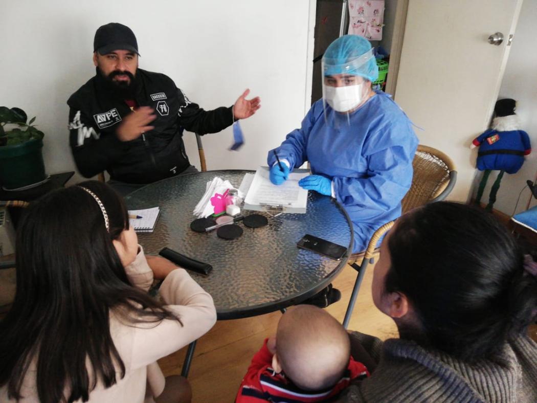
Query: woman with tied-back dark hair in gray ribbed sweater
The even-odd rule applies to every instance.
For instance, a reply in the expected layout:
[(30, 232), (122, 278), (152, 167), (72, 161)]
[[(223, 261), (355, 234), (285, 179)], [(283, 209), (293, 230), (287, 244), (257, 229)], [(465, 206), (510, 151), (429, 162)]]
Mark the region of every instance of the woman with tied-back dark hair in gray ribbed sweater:
[(386, 235), (373, 301), (399, 339), (351, 334), (371, 377), (344, 402), (535, 402), (537, 263), (491, 214), (458, 203), (405, 214)]

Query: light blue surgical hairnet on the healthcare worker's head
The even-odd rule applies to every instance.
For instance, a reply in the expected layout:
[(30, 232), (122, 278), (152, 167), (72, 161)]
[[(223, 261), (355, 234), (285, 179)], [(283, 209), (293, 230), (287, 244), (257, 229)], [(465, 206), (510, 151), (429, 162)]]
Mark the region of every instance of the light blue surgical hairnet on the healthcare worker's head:
[[(369, 81), (379, 78), (379, 68), (375, 57), (362, 63), (359, 59), (371, 52), (369, 41), (358, 35), (343, 35), (333, 41), (323, 56), (323, 75), (352, 74)], [(364, 56), (367, 59), (367, 55)]]

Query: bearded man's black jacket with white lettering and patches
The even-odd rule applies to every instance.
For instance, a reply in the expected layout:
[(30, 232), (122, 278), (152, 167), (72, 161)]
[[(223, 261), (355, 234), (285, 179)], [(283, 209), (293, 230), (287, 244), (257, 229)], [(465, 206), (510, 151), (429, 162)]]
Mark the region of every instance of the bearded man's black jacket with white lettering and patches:
[(97, 71), (67, 101), (69, 143), (85, 177), (107, 170), (121, 182), (151, 183), (177, 175), (190, 165), (183, 129), (206, 134), (233, 124), (231, 107), (205, 111), (190, 102), (170, 77), (137, 69), (135, 101), (155, 110), (157, 118), (150, 123), (155, 128), (135, 140), (120, 141), (115, 131), (133, 112), (104, 80)]

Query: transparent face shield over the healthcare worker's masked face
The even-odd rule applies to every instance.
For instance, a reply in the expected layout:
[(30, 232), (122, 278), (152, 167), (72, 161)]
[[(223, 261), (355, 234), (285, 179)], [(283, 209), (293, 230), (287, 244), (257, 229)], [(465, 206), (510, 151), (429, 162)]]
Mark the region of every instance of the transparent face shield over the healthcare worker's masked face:
[(369, 76), (368, 61), (374, 58), (373, 49), (366, 53), (347, 59), (329, 59), (323, 57), (323, 107), (326, 123), (338, 126), (350, 123), (350, 114), (367, 100), (370, 87), (366, 78)]

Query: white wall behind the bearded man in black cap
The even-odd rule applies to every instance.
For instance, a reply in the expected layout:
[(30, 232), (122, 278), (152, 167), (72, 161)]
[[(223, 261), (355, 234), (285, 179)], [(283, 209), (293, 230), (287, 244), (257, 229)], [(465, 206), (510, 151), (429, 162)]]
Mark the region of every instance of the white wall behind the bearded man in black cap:
[[(136, 34), (140, 67), (169, 75), (204, 109), (233, 105), (247, 87), (261, 97), (241, 121), (238, 152), (228, 151), (231, 128), (204, 136), (208, 169), (253, 169), (309, 109), (314, 17), (315, 0), (4, 0), (0, 105), (37, 116), (49, 174), (75, 170), (66, 101), (95, 75), (96, 29), (117, 21)], [(194, 136), (185, 136), (199, 167)]]

